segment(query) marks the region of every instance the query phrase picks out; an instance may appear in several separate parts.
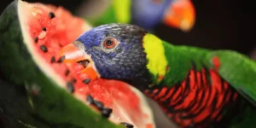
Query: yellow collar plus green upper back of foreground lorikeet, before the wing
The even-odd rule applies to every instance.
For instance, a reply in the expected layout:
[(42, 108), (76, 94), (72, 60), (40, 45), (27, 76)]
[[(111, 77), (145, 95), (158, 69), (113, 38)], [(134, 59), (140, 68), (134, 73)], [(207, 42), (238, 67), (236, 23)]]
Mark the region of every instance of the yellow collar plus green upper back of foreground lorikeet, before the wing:
[(148, 87), (171, 87), (182, 82), (189, 73), (192, 62), (200, 70), (201, 64), (207, 63), (203, 58), (209, 52), (207, 49), (175, 46), (152, 34), (144, 36), (143, 47), (147, 54), (148, 71), (153, 76)]

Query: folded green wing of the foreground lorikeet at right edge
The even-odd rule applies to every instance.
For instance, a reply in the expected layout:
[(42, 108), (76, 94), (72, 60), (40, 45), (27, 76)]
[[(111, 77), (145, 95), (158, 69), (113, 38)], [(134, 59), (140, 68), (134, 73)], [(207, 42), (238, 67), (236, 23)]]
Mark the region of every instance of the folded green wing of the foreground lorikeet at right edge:
[(256, 105), (256, 62), (246, 55), (231, 50), (216, 50), (207, 55), (218, 56), (220, 67), (218, 73), (229, 82), (240, 94)]

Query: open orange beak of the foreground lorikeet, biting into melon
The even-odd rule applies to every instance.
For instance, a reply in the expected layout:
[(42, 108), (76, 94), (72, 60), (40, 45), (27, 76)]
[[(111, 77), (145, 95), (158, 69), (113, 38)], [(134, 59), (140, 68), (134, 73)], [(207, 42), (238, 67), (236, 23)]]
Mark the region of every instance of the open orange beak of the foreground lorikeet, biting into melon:
[(59, 53), (60, 56), (64, 56), (64, 62), (67, 63), (80, 63), (84, 66), (84, 70), (81, 73), (86, 73), (90, 76), (90, 79), (95, 80), (100, 78), (99, 73), (96, 71), (94, 62), (90, 55), (84, 50), (84, 44), (79, 41), (75, 41), (72, 44), (67, 44), (63, 47)]

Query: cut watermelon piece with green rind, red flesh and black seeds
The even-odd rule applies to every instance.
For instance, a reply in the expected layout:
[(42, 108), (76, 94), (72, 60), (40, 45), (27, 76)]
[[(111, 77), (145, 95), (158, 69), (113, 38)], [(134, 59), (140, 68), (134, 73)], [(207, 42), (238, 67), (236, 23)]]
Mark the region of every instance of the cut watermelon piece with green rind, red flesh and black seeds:
[(66, 9), (43, 3), (19, 0), (4, 10), (0, 17), (1, 79), (15, 85), (0, 85), (0, 108), (6, 109), (10, 124), (154, 127), (151, 109), (138, 90), (114, 80), (90, 81), (81, 73), (83, 65), (62, 62), (60, 49), (90, 28)]

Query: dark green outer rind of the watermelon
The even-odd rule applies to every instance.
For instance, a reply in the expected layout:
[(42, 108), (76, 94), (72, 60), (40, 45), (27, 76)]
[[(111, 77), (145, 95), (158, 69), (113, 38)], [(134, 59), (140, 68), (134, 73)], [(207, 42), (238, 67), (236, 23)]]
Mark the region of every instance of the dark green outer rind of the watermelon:
[[(0, 76), (4, 80), (0, 83), (0, 108), (4, 108), (9, 124), (39, 128), (123, 127), (84, 105), (39, 69), (23, 42), (17, 7), (18, 1), (14, 1), (0, 17)], [(31, 93), (35, 88), (38, 94)]]

